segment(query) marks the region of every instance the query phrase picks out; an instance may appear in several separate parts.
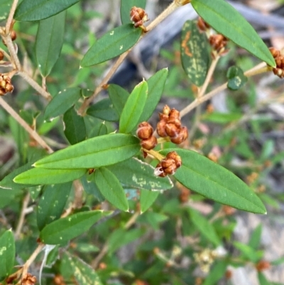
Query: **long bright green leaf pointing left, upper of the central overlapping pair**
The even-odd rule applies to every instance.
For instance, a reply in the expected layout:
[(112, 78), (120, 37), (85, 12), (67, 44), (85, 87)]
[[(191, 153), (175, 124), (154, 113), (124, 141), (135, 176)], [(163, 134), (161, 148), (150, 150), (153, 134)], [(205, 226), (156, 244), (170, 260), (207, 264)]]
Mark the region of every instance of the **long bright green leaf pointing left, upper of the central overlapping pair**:
[(98, 168), (125, 161), (140, 151), (139, 139), (129, 134), (106, 134), (86, 139), (35, 162), (38, 168)]

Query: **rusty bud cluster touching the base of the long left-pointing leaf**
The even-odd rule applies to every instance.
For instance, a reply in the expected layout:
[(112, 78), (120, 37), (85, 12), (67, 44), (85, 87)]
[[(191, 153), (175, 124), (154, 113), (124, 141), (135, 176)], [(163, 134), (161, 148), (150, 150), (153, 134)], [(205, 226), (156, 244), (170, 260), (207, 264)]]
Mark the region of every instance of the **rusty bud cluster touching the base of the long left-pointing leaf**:
[(138, 138), (141, 139), (140, 144), (143, 149), (150, 151), (150, 149), (153, 149), (157, 145), (158, 141), (157, 138), (153, 136), (153, 133), (153, 127), (148, 122), (138, 124), (136, 134)]

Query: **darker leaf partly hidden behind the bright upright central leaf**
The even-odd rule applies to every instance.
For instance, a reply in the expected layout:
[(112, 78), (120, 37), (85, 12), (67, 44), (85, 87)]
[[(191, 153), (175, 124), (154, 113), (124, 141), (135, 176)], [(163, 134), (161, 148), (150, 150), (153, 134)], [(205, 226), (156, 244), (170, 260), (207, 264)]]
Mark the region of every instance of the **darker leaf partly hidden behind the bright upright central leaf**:
[(143, 113), (138, 122), (148, 121), (151, 117), (155, 108), (160, 102), (160, 97), (163, 94), (163, 90), (165, 87), (165, 81), (168, 77), (168, 68), (163, 68), (156, 72), (153, 76), (151, 76), (148, 80), (148, 97), (146, 100), (145, 107), (143, 109)]

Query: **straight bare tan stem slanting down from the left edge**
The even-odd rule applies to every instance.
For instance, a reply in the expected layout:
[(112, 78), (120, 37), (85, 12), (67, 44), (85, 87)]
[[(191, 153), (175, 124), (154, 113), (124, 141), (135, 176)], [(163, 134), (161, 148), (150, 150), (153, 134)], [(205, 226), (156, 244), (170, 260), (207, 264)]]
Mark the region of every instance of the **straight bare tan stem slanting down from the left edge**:
[(0, 105), (2, 105), (2, 107), (6, 110), (6, 112), (8, 112), (11, 115), (11, 117), (13, 117), (13, 119), (16, 119), (18, 124), (20, 124), (21, 127), (23, 127), (23, 129), (26, 129), (26, 131), (28, 131), (28, 134), (30, 134), (33, 137), (33, 139), (35, 139), (35, 141), (37, 141), (38, 144), (40, 144), (40, 146), (43, 147), (43, 149), (48, 151), (49, 154), (53, 153), (53, 149), (51, 149), (50, 146), (48, 146), (48, 144), (46, 144), (45, 141), (43, 141), (40, 135), (35, 130), (33, 130), (26, 123), (26, 121), (24, 121), (18, 115), (18, 113), (8, 103), (6, 103), (6, 101), (2, 97), (0, 97)]

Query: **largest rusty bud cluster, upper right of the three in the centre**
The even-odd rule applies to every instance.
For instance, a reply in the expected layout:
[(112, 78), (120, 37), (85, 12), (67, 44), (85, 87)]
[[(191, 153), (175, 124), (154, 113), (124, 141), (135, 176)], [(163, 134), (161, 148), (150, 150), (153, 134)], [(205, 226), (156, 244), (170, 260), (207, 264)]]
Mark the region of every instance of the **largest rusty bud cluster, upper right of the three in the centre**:
[(188, 136), (187, 127), (182, 127), (180, 122), (180, 112), (170, 109), (168, 105), (165, 105), (163, 113), (160, 114), (157, 133), (161, 137), (169, 136), (174, 144), (181, 144)]

